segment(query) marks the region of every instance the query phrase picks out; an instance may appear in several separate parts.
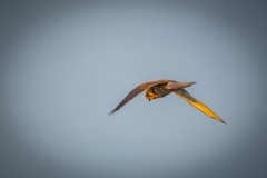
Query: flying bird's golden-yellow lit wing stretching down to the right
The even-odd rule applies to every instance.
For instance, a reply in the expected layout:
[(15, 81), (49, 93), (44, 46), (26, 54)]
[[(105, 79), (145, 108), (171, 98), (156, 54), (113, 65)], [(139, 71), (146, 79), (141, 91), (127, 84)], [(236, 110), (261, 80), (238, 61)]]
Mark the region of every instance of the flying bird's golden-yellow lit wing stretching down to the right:
[(222, 123), (226, 123), (222, 119), (220, 119), (211, 109), (209, 109), (205, 103), (201, 101), (192, 98), (187, 90), (179, 88), (174, 91), (175, 95), (179, 96), (180, 98), (185, 99), (187, 102), (192, 105), (195, 108), (204, 112), (205, 115), (209, 116), (210, 118), (214, 118)]

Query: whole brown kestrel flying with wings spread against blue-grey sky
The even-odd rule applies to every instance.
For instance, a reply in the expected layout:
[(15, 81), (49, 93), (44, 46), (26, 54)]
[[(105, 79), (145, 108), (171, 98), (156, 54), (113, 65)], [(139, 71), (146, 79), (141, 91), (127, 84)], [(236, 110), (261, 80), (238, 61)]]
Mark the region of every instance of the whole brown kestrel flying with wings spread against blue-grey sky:
[(174, 92), (175, 95), (179, 96), (180, 98), (185, 99), (187, 102), (192, 105), (195, 108), (204, 112), (205, 115), (209, 116), (212, 119), (216, 119), (222, 123), (226, 123), (222, 119), (220, 119), (211, 109), (209, 109), (205, 103), (200, 102), (199, 100), (192, 98), (187, 90), (184, 88), (190, 87), (196, 82), (178, 82), (175, 80), (156, 80), (150, 82), (145, 82), (137, 86), (134, 90), (131, 90), (126, 98), (111, 111), (109, 115), (112, 115), (121, 107), (123, 107), (127, 102), (129, 102), (132, 98), (141, 93), (146, 90), (146, 98), (148, 101), (157, 98), (164, 98), (165, 96)]

